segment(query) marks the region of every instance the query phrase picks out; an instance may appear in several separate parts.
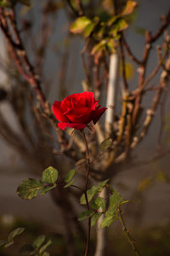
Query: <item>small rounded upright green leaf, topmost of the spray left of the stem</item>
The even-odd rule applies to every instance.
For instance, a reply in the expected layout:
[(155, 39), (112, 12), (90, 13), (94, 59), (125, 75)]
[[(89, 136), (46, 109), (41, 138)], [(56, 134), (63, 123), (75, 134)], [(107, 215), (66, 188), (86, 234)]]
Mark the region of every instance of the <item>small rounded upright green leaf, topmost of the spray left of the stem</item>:
[(49, 166), (47, 169), (45, 169), (42, 172), (42, 181), (44, 183), (54, 184), (56, 183), (57, 178), (58, 178), (58, 171), (52, 166)]

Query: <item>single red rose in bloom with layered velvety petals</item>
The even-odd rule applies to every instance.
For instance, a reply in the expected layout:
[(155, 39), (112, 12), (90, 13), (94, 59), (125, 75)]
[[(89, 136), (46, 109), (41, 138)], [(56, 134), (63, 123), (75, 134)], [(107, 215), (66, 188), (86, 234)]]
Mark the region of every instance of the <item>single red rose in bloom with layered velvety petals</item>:
[(53, 112), (60, 121), (59, 129), (66, 127), (83, 129), (90, 121), (95, 123), (107, 108), (99, 108), (99, 101), (95, 101), (93, 92), (82, 92), (67, 96), (62, 102), (54, 102)]

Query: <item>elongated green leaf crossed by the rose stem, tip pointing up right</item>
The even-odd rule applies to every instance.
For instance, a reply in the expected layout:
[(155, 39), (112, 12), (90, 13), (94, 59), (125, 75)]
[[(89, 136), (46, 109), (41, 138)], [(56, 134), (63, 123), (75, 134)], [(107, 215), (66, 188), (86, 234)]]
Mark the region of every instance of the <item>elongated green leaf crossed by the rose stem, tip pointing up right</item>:
[[(94, 197), (94, 195), (96, 195), (96, 193), (98, 193), (99, 191), (101, 191), (105, 187), (105, 184), (108, 181), (109, 181), (109, 179), (105, 179), (105, 181), (99, 183), (98, 186), (93, 186), (91, 189), (88, 189), (88, 191), (87, 191), (88, 202), (90, 202), (93, 199), (93, 197)], [(84, 194), (81, 196), (80, 203), (82, 205), (86, 204), (86, 198), (85, 198)]]

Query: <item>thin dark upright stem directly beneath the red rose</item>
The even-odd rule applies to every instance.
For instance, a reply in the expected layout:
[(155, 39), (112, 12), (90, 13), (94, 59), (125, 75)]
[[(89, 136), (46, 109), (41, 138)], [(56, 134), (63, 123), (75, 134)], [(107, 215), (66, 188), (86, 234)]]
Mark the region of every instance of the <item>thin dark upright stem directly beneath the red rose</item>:
[[(89, 150), (88, 150), (88, 142), (86, 139), (86, 135), (84, 130), (82, 130), (82, 136), (84, 138), (84, 143), (86, 145), (86, 160), (87, 160), (87, 173), (86, 173), (86, 183), (84, 188), (84, 195), (86, 199), (87, 208), (89, 210), (89, 204), (88, 204), (88, 195), (87, 195), (87, 189), (88, 189), (88, 176), (90, 172), (90, 160), (89, 160)], [(90, 230), (91, 230), (91, 218), (88, 218), (88, 236), (87, 236), (87, 242), (86, 242), (86, 250), (84, 256), (88, 255), (88, 247), (89, 247), (89, 240), (90, 240)]]

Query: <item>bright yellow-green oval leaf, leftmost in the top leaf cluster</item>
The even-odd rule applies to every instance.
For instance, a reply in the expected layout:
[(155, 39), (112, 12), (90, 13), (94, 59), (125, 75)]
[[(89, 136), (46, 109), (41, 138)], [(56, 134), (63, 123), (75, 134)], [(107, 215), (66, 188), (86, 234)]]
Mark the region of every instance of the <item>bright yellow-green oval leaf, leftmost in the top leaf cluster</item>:
[(91, 22), (86, 16), (79, 17), (71, 24), (70, 31), (75, 34), (82, 33)]

